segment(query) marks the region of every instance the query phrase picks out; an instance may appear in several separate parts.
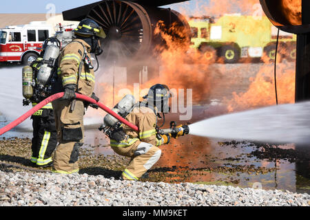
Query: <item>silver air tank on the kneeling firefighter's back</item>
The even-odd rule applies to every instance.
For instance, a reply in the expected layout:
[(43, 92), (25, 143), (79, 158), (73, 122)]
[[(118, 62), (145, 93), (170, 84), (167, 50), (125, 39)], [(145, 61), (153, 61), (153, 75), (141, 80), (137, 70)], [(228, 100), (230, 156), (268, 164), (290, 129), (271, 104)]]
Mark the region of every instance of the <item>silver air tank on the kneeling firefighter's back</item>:
[[(118, 104), (116, 104), (112, 111), (118, 113), (118, 115), (121, 115), (123, 118), (125, 118), (125, 116), (129, 114), (130, 111), (132, 111), (132, 107), (134, 107), (134, 104), (136, 104), (134, 96), (126, 95), (120, 102), (118, 102)], [(105, 115), (103, 122), (105, 126), (114, 126), (118, 122), (118, 120), (112, 115), (107, 114)]]

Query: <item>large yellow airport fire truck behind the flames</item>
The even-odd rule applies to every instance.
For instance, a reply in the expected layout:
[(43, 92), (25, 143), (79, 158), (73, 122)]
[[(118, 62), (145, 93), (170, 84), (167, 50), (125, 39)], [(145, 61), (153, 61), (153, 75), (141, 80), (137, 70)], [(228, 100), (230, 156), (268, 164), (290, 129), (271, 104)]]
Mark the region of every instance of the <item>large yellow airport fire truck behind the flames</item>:
[[(209, 61), (237, 63), (240, 58), (261, 58), (273, 62), (278, 30), (267, 17), (225, 14), (223, 17), (191, 17), (191, 47)], [(279, 34), (278, 54), (281, 59), (296, 58), (296, 35)]]

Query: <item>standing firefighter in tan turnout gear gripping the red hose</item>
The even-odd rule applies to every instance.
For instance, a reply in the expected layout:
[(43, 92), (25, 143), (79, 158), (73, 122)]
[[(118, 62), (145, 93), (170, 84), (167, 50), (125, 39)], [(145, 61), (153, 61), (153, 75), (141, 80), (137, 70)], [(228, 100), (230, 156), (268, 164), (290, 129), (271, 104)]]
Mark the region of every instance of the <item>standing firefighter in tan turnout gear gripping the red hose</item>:
[(63, 98), (52, 102), (59, 142), (54, 156), (54, 173), (79, 171), (78, 157), (79, 148), (83, 145), (85, 103), (75, 100), (75, 93), (89, 97), (94, 95), (94, 67), (90, 53), (99, 56), (103, 52), (99, 39), (105, 38), (105, 33), (95, 21), (83, 19), (74, 34), (76, 39), (66, 45), (59, 56), (59, 77), (54, 86), (65, 91)]

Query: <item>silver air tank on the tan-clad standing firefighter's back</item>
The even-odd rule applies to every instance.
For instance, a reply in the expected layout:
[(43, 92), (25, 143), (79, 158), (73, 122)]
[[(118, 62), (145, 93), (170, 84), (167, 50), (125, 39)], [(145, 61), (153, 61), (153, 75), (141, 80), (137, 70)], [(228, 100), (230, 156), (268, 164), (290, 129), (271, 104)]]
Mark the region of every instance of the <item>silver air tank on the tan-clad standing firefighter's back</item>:
[(56, 58), (59, 56), (60, 49), (56, 45), (48, 45), (46, 47), (44, 56), (43, 56), (43, 65), (39, 69), (37, 76), (37, 83), (39, 87), (44, 87), (48, 80), (51, 77), (52, 69), (54, 68), (53, 64), (56, 63)]

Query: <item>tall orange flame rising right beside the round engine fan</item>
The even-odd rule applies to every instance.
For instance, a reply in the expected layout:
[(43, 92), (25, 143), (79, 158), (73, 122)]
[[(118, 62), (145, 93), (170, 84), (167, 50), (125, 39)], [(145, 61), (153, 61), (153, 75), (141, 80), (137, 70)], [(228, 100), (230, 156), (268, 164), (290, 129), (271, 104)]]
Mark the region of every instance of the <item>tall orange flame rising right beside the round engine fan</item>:
[[(174, 35), (169, 33), (174, 33), (181, 40), (176, 41)], [(160, 21), (154, 34), (161, 36), (165, 41), (165, 46), (155, 48), (162, 65), (161, 80), (174, 89), (193, 89), (194, 104), (203, 102), (210, 89), (211, 69), (200, 52), (197, 50), (188, 52), (189, 41), (186, 30), (178, 27), (176, 23), (167, 29)]]

